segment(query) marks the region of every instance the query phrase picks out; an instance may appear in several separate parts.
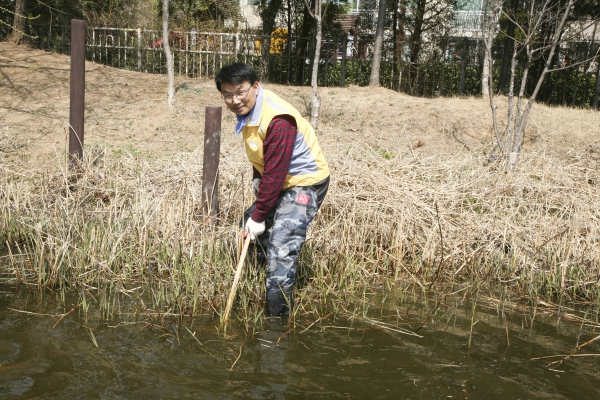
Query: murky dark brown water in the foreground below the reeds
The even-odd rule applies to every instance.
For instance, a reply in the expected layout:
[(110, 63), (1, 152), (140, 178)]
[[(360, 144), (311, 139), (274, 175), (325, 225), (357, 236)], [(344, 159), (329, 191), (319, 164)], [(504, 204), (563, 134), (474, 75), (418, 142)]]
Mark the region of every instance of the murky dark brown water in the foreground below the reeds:
[[(76, 309), (57, 324), (74, 305), (0, 286), (0, 398), (600, 398), (600, 357), (531, 360), (569, 354), (600, 333), (541, 311), (530, 330), (531, 315), (512, 311), (505, 323), (494, 307), (478, 308), (469, 349), (470, 306), (442, 307), (422, 337), (392, 329), (416, 329), (431, 308), (403, 306), (310, 327), (314, 318), (299, 320), (295, 332), (271, 321), (246, 334), (234, 324), (223, 338), (212, 316), (176, 327), (144, 314), (86, 321)], [(579, 353), (600, 353), (598, 342)]]

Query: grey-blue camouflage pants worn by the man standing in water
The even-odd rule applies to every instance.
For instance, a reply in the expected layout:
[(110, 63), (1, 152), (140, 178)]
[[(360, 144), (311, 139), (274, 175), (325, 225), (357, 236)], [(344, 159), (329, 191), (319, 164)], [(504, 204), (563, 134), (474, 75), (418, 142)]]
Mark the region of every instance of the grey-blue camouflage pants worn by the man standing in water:
[[(295, 261), (319, 204), (312, 188), (298, 186), (283, 192), (275, 208), (267, 214), (265, 233), (254, 242), (257, 261), (267, 266), (267, 294), (291, 292), (296, 280)], [(244, 213), (245, 221), (253, 210), (254, 204)]]

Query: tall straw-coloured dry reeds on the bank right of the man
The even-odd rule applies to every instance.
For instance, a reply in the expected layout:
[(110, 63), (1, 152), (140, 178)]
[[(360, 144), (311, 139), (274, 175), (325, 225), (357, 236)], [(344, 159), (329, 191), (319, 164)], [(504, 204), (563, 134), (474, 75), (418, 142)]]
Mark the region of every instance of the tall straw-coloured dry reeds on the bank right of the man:
[(466, 278), (598, 296), (597, 160), (524, 153), (511, 175), (471, 153), (389, 159), (356, 146), (328, 157), (335, 185), (312, 232), (313, 248), (329, 247), (325, 268), (358, 263), (363, 279)]

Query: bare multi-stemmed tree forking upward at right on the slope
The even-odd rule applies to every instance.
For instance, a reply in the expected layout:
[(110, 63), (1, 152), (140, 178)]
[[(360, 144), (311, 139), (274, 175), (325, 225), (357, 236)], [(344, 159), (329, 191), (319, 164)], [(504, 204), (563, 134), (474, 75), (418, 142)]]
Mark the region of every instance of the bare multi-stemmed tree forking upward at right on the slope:
[[(497, 0), (501, 2), (502, 0)], [(568, 0), (565, 4), (553, 0), (528, 1), (525, 4), (527, 8), (523, 10), (522, 16), (524, 21), (512, 22), (516, 25), (519, 34), (515, 35), (515, 46), (513, 49), (510, 79), (507, 97), (507, 117), (504, 128), (500, 127), (497, 115), (497, 106), (492, 90), (492, 80), (488, 80), (488, 93), (490, 107), (492, 109), (492, 120), (494, 125), (494, 133), (498, 147), (504, 155), (508, 157), (509, 168), (514, 170), (518, 156), (521, 151), (523, 142), (523, 133), (527, 123), (527, 117), (531, 111), (531, 107), (535, 103), (538, 92), (544, 82), (544, 78), (551, 71), (556, 71), (565, 68), (565, 66), (556, 66), (552, 68), (552, 58), (556, 52), (557, 46), (560, 43), (566, 42), (572, 35), (572, 32), (565, 35), (567, 31), (567, 18), (576, 0)], [(507, 15), (507, 18), (511, 16)], [(542, 29), (552, 28), (552, 34), (549, 40), (540, 40)], [(572, 29), (572, 26), (570, 26)], [(490, 51), (486, 45), (486, 51)], [(521, 85), (519, 92), (514, 93), (515, 76), (517, 57), (523, 55), (525, 65), (522, 71)], [(535, 61), (543, 62), (543, 70), (535, 82), (533, 92), (526, 98), (525, 93), (527, 87), (527, 79), (529, 70)], [(571, 67), (574, 65), (571, 65)], [(488, 64), (488, 74), (491, 76), (491, 63)]]

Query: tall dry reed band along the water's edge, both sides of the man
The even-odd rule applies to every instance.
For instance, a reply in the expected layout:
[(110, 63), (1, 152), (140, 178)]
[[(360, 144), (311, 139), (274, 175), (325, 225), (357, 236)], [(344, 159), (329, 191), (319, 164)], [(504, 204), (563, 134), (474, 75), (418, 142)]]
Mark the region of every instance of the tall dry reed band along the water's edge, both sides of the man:
[[(0, 167), (5, 279), (82, 296), (91, 290), (106, 315), (118, 312), (117, 295), (149, 296), (176, 314), (220, 313), (238, 221), (252, 201), (243, 157), (222, 162), (220, 216), (211, 224), (201, 215), (200, 150), (160, 160), (96, 150), (87, 151), (77, 180), (60, 168)], [(330, 191), (299, 262), (297, 309), (407, 281), (502, 282), (532, 296), (598, 297), (593, 160), (523, 154), (510, 175), (501, 161), (470, 153), (337, 150), (328, 151)], [(263, 278), (246, 269), (238, 303), (246, 321), (260, 315)]]

